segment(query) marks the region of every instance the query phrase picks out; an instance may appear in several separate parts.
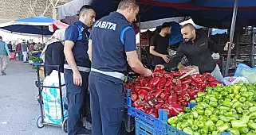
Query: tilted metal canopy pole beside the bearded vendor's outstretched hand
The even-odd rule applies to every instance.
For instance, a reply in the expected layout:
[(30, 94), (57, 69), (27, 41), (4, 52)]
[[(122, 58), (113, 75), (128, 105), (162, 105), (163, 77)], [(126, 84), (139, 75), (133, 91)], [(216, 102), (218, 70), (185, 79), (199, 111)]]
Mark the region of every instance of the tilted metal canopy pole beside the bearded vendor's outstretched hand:
[(231, 44), (233, 43), (234, 39), (234, 28), (235, 28), (235, 21), (236, 16), (238, 12), (238, 0), (234, 1), (234, 11), (233, 11), (233, 17), (232, 17), (232, 23), (230, 28), (230, 44), (228, 45), (228, 51), (227, 51), (227, 58), (226, 58), (226, 68), (225, 68), (225, 75), (228, 74), (228, 70), (230, 68), (230, 55), (231, 55)]

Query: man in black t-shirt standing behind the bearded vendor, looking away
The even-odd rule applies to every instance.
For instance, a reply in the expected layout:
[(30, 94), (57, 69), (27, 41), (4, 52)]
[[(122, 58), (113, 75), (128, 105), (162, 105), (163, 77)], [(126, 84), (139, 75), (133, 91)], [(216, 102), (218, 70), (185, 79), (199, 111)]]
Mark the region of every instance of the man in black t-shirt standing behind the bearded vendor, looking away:
[(164, 22), (160, 33), (156, 33), (150, 42), (150, 53), (153, 55), (152, 66), (165, 64), (170, 61), (168, 54), (169, 34), (171, 33), (171, 23)]

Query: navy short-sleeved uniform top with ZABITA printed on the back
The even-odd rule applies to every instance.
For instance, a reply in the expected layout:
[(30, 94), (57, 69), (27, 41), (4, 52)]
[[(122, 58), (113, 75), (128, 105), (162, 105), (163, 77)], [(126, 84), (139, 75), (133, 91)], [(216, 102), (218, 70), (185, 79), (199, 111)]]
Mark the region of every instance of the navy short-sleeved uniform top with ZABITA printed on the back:
[[(124, 15), (112, 12), (96, 21), (90, 39), (93, 40), (92, 68), (119, 73), (127, 70), (125, 52), (136, 50), (136, 33)], [(91, 72), (91, 75), (95, 74), (100, 75)], [(120, 83), (116, 79), (108, 79)]]

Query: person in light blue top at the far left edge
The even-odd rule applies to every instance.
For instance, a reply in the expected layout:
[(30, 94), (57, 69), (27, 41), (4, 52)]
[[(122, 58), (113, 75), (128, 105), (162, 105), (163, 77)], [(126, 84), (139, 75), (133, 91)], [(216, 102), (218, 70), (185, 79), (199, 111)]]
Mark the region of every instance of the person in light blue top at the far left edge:
[(6, 42), (0, 37), (0, 75), (6, 75), (6, 67), (10, 60), (10, 51)]

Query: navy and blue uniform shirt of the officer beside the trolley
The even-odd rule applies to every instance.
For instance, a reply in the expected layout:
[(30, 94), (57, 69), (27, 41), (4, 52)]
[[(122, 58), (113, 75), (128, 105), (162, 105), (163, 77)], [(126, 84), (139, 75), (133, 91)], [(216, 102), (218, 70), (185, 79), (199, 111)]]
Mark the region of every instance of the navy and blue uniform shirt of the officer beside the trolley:
[[(91, 62), (88, 56), (89, 35), (88, 27), (82, 21), (76, 21), (65, 30), (65, 40), (72, 40), (73, 56), (77, 66), (90, 68)], [(65, 60), (65, 64), (68, 64)]]

